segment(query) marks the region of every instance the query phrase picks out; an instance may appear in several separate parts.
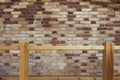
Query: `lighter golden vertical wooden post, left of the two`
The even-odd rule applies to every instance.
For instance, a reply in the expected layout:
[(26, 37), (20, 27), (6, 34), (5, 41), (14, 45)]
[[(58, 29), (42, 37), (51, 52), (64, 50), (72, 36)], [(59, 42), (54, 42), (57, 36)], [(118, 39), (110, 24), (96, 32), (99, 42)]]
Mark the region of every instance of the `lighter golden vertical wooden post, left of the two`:
[(28, 43), (20, 44), (20, 80), (28, 80)]

